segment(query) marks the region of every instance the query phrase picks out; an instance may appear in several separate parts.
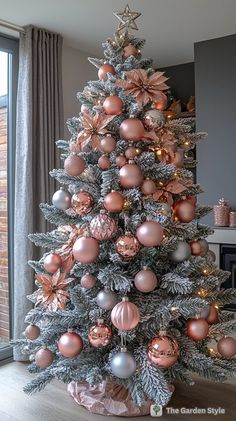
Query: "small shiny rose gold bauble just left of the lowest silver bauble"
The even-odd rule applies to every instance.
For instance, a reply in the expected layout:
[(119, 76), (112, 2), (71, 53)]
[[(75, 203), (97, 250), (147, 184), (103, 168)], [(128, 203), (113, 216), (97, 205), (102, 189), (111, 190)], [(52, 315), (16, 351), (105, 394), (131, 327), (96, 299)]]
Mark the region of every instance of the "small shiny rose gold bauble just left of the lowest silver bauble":
[(110, 326), (102, 319), (89, 329), (88, 340), (95, 348), (103, 348), (111, 343), (112, 332)]

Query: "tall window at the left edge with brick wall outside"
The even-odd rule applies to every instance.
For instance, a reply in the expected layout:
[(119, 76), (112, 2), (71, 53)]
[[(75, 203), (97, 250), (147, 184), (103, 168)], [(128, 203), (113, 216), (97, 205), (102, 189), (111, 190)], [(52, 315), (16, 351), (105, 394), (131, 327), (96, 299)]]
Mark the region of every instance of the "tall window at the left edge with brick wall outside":
[(11, 356), (18, 40), (0, 35), (0, 359)]

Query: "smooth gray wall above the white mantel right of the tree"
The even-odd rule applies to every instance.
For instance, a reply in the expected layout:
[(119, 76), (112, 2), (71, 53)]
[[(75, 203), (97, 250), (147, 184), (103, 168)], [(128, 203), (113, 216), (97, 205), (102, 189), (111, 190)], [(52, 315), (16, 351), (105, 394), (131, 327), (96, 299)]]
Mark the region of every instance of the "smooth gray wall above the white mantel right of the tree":
[[(197, 147), (199, 201), (220, 197), (236, 207), (236, 35), (195, 44), (197, 130), (208, 139)], [(204, 219), (213, 224), (213, 214)]]

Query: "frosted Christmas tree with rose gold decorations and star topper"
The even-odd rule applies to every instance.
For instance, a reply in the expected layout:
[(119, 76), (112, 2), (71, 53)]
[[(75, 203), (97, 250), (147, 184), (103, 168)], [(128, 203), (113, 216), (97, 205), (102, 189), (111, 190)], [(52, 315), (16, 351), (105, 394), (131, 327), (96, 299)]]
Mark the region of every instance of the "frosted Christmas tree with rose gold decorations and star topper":
[(167, 77), (131, 35), (140, 14), (114, 14), (104, 58), (89, 58), (99, 80), (78, 94), (70, 140), (57, 142), (64, 169), (51, 176), (63, 187), (40, 205), (56, 228), (30, 235), (46, 252), (29, 262), (35, 306), (14, 344), (37, 374), (29, 394), (54, 378), (110, 379), (139, 406), (165, 405), (176, 380), (235, 372), (236, 322), (222, 310), (236, 290), (220, 288), (229, 273), (216, 267), (212, 230), (199, 222), (211, 209), (197, 203), (188, 151), (205, 133), (193, 131), (193, 118), (165, 118)]

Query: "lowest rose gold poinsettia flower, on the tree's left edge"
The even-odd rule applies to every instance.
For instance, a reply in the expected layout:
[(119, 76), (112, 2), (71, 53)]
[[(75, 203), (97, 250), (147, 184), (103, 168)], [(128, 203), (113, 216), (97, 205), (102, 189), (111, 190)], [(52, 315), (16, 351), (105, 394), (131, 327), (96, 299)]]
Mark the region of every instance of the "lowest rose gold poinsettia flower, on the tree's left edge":
[(47, 307), (49, 311), (63, 310), (69, 292), (65, 288), (74, 281), (73, 278), (66, 278), (66, 272), (61, 273), (60, 269), (56, 273), (46, 275), (40, 273), (36, 275), (36, 281), (40, 284), (36, 292), (36, 306), (41, 304)]

